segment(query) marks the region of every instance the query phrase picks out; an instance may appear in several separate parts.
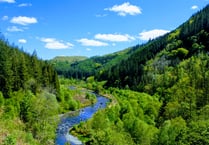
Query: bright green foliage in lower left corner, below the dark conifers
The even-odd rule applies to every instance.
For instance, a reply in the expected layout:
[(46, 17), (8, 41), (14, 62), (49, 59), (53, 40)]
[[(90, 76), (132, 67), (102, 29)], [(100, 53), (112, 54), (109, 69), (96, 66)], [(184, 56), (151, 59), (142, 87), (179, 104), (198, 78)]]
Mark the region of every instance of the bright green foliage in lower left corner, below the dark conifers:
[[(30, 144), (52, 144), (54, 142), (59, 110), (54, 94), (46, 90), (37, 96), (30, 91), (13, 92), (11, 98), (5, 100), (4, 108), (3, 114), (0, 114), (0, 124), (2, 123), (4, 126), (3, 132), (6, 133), (9, 130), (12, 138), (8, 136), (3, 144), (13, 144), (14, 139), (17, 140), (14, 144), (19, 144), (16, 142), (20, 142), (20, 140)], [(10, 122), (11, 124), (19, 122), (22, 124), (13, 127), (14, 125), (12, 126)], [(20, 136), (17, 136), (16, 132), (21, 132)]]

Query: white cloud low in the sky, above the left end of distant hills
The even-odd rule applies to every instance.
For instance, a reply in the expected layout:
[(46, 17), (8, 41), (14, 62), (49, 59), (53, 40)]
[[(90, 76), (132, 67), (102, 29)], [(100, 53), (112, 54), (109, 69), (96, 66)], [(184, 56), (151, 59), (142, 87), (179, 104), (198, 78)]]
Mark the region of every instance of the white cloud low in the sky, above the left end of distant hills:
[(46, 43), (45, 48), (48, 49), (67, 49), (73, 47), (73, 44), (55, 38), (41, 38), (41, 41)]

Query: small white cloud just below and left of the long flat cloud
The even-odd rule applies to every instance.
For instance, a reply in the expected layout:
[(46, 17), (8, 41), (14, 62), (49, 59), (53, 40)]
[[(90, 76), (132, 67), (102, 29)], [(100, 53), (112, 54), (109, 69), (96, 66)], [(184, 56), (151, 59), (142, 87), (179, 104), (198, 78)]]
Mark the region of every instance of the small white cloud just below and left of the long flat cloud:
[(97, 41), (97, 40), (92, 40), (92, 39), (86, 39), (86, 38), (77, 40), (77, 42), (81, 43), (81, 45), (83, 46), (108, 46), (107, 43)]

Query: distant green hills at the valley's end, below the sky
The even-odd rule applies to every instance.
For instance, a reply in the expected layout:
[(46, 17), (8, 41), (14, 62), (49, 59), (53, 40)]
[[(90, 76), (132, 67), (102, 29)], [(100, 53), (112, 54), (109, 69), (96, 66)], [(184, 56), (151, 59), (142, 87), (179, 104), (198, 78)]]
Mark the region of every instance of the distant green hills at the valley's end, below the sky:
[(54, 65), (59, 75), (68, 78), (83, 79), (96, 72), (109, 68), (131, 55), (138, 46), (104, 56), (87, 57), (55, 57), (49, 62)]

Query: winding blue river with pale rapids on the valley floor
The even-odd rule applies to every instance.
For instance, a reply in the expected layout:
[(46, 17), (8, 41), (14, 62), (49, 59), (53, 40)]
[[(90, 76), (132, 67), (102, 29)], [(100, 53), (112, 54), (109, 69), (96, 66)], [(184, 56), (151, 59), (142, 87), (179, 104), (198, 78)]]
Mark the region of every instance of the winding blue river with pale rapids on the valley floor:
[(102, 109), (106, 107), (106, 103), (109, 99), (96, 95), (97, 102), (92, 106), (88, 106), (79, 110), (78, 114), (75, 116), (63, 116), (60, 124), (57, 128), (57, 137), (56, 137), (56, 145), (65, 145), (65, 143), (69, 142), (71, 145), (82, 145), (82, 142), (78, 140), (78, 138), (69, 134), (69, 129), (76, 124), (79, 124), (81, 121), (87, 121), (90, 119), (94, 113), (98, 111), (98, 109)]

